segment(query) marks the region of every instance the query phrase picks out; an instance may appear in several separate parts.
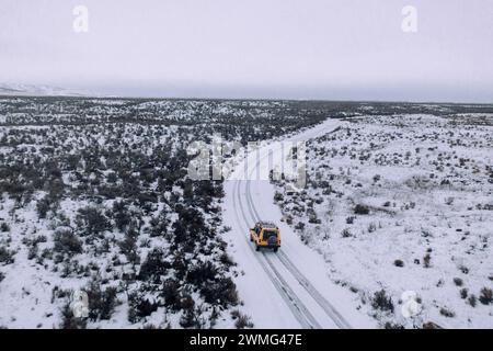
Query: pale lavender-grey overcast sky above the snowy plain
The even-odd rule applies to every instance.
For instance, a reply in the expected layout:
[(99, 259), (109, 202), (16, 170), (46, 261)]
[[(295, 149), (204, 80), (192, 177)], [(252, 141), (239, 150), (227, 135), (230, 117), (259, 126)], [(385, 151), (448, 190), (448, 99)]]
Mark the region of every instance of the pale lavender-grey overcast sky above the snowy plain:
[[(72, 29), (76, 5), (89, 32)], [(401, 29), (417, 10), (417, 32)], [(493, 0), (0, 0), (0, 82), (493, 102)]]

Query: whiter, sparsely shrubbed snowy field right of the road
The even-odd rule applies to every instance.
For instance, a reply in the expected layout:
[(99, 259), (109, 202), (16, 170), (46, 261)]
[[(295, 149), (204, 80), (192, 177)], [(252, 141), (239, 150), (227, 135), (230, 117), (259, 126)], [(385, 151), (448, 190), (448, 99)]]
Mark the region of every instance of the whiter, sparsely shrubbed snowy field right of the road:
[(275, 184), (283, 220), (381, 327), (493, 328), (493, 114), (446, 110), (347, 118), (308, 144), (302, 192)]

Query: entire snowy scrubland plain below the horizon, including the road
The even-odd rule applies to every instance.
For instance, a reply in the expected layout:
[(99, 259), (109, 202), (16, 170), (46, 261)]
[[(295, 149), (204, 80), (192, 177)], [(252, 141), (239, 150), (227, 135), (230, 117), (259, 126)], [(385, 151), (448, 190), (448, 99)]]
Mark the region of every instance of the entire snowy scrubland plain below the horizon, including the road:
[[(0, 327), (492, 327), (491, 113), (0, 98)], [(188, 146), (217, 136), (310, 140), (306, 191), (190, 179)], [(257, 278), (261, 261), (238, 242), (256, 212), (284, 216), (282, 254), (266, 258), (277, 278)], [(252, 309), (257, 282), (291, 295)], [(424, 306), (413, 320), (399, 312), (404, 290)], [(88, 294), (85, 319), (74, 291)]]

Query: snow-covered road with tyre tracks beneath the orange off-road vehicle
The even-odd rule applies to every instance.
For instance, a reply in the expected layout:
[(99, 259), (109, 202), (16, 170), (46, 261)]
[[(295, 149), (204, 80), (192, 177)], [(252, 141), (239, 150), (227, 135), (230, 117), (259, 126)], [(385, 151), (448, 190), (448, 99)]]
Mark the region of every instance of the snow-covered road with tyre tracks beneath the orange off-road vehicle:
[[(308, 140), (341, 124), (328, 120), (283, 140)], [(274, 186), (267, 180), (241, 180), (238, 176), (244, 172), (245, 160), (254, 165), (249, 166), (249, 172), (259, 171), (260, 160), (270, 149), (265, 145), (246, 154), (225, 184), (225, 225), (231, 227), (230, 251), (242, 272), (237, 284), (245, 312), (256, 328), (375, 328), (376, 322), (357, 309), (355, 296), (331, 282), (322, 257), (280, 222), (280, 210), (273, 202)], [(261, 219), (280, 228), (282, 248), (277, 253), (257, 252), (250, 242), (249, 228)]]

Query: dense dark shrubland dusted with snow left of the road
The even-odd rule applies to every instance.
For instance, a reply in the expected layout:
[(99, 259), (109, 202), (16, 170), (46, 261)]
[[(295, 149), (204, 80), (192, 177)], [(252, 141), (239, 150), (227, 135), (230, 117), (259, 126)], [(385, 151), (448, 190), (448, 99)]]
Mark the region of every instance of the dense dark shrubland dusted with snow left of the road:
[[(221, 181), (187, 147), (317, 124), (263, 101), (0, 98), (0, 327), (244, 328)], [(88, 294), (89, 318), (70, 307)]]

